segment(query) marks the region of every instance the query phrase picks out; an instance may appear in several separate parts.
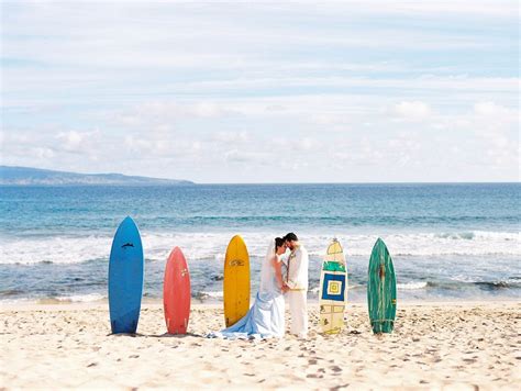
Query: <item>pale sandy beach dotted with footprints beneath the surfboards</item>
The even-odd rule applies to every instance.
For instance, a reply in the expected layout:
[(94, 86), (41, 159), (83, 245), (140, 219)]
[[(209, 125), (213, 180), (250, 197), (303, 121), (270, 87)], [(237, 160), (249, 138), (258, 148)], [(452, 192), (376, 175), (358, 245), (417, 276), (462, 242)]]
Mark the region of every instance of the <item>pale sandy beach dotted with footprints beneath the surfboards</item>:
[(220, 305), (196, 304), (190, 334), (165, 335), (163, 308), (142, 309), (136, 336), (109, 335), (108, 306), (1, 308), (0, 386), (15, 388), (519, 389), (521, 302), (402, 304), (396, 332), (375, 336), (366, 308), (348, 328), (299, 340), (202, 337)]

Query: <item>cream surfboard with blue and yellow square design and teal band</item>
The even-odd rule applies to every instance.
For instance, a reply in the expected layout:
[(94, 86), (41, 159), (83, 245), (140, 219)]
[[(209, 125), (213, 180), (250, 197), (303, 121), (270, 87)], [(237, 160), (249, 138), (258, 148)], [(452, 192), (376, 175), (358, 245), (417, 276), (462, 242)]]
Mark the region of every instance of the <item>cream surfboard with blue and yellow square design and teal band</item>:
[(319, 299), (322, 333), (342, 332), (347, 302), (347, 267), (344, 250), (336, 239), (328, 246), (322, 262)]

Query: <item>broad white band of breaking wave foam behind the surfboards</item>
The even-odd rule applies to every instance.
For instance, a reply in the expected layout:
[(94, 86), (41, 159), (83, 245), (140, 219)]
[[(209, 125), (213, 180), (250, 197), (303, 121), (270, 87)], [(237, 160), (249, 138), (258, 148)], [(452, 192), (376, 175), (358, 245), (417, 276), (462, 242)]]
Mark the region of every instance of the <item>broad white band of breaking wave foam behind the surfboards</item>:
[[(280, 234), (280, 233), (278, 233)], [(222, 260), (234, 233), (143, 233), (146, 260), (164, 261), (174, 246), (179, 246), (189, 261)], [(275, 233), (245, 233), (252, 257), (264, 257)], [(333, 235), (299, 233), (313, 257), (321, 257)], [(377, 235), (337, 235), (347, 257), (369, 257)], [(393, 257), (403, 256), (521, 256), (521, 233), (400, 233), (384, 235)], [(111, 236), (54, 236), (48, 238), (1, 239), (0, 264), (75, 264), (107, 261)]]

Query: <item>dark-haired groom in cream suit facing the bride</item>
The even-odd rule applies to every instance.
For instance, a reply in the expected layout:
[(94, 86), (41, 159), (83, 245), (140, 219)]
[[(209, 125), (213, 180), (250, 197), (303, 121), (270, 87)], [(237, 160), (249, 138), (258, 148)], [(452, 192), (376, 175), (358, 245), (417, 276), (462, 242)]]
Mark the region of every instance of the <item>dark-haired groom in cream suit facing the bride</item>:
[(284, 287), (291, 314), (290, 332), (299, 338), (306, 338), (308, 336), (308, 252), (292, 232), (284, 239), (291, 250), (286, 260), (287, 273)]

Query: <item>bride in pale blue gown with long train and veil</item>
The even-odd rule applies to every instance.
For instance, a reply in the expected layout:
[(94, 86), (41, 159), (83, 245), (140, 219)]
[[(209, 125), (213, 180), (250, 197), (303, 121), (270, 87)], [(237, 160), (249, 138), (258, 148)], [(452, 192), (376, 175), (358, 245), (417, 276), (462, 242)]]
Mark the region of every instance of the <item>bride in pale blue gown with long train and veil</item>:
[(260, 286), (255, 303), (248, 313), (234, 325), (218, 333), (210, 333), (209, 337), (224, 338), (268, 338), (282, 337), (284, 295), (281, 256), (286, 253), (286, 243), (276, 237), (269, 245), (260, 271)]

